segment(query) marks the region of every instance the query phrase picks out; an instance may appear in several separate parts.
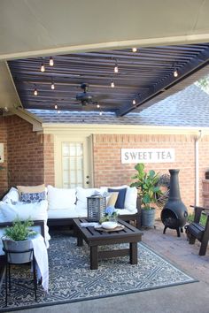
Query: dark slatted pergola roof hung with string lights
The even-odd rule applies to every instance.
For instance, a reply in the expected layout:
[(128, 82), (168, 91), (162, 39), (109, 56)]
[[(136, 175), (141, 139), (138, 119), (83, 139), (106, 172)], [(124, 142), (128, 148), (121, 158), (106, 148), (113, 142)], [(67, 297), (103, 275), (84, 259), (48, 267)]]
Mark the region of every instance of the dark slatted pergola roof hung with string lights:
[[(208, 60), (208, 47), (208, 43), (199, 43), (145, 47), (135, 53), (128, 49), (103, 50), (54, 56), (54, 66), (49, 65), (50, 57), (19, 59), (8, 64), (19, 98), (26, 108), (51, 108), (58, 102), (60, 110), (74, 110), (75, 107), (81, 111), (92, 110), (95, 108), (92, 103), (82, 106), (76, 101), (76, 94), (82, 92), (81, 83), (88, 83), (93, 99), (99, 95), (104, 97), (101, 101), (104, 110), (124, 115), (134, 109), (132, 99), (135, 96), (141, 96), (137, 103), (140, 105), (168, 86), (178, 90), (174, 85)], [(113, 73), (116, 60), (120, 69), (118, 74)], [(42, 62), (45, 73), (40, 72)], [(174, 78), (174, 67), (181, 73), (180, 78)], [(55, 90), (50, 89), (51, 79), (55, 82)], [(112, 80), (115, 88), (110, 87)], [(35, 85), (38, 96), (33, 95)]]

